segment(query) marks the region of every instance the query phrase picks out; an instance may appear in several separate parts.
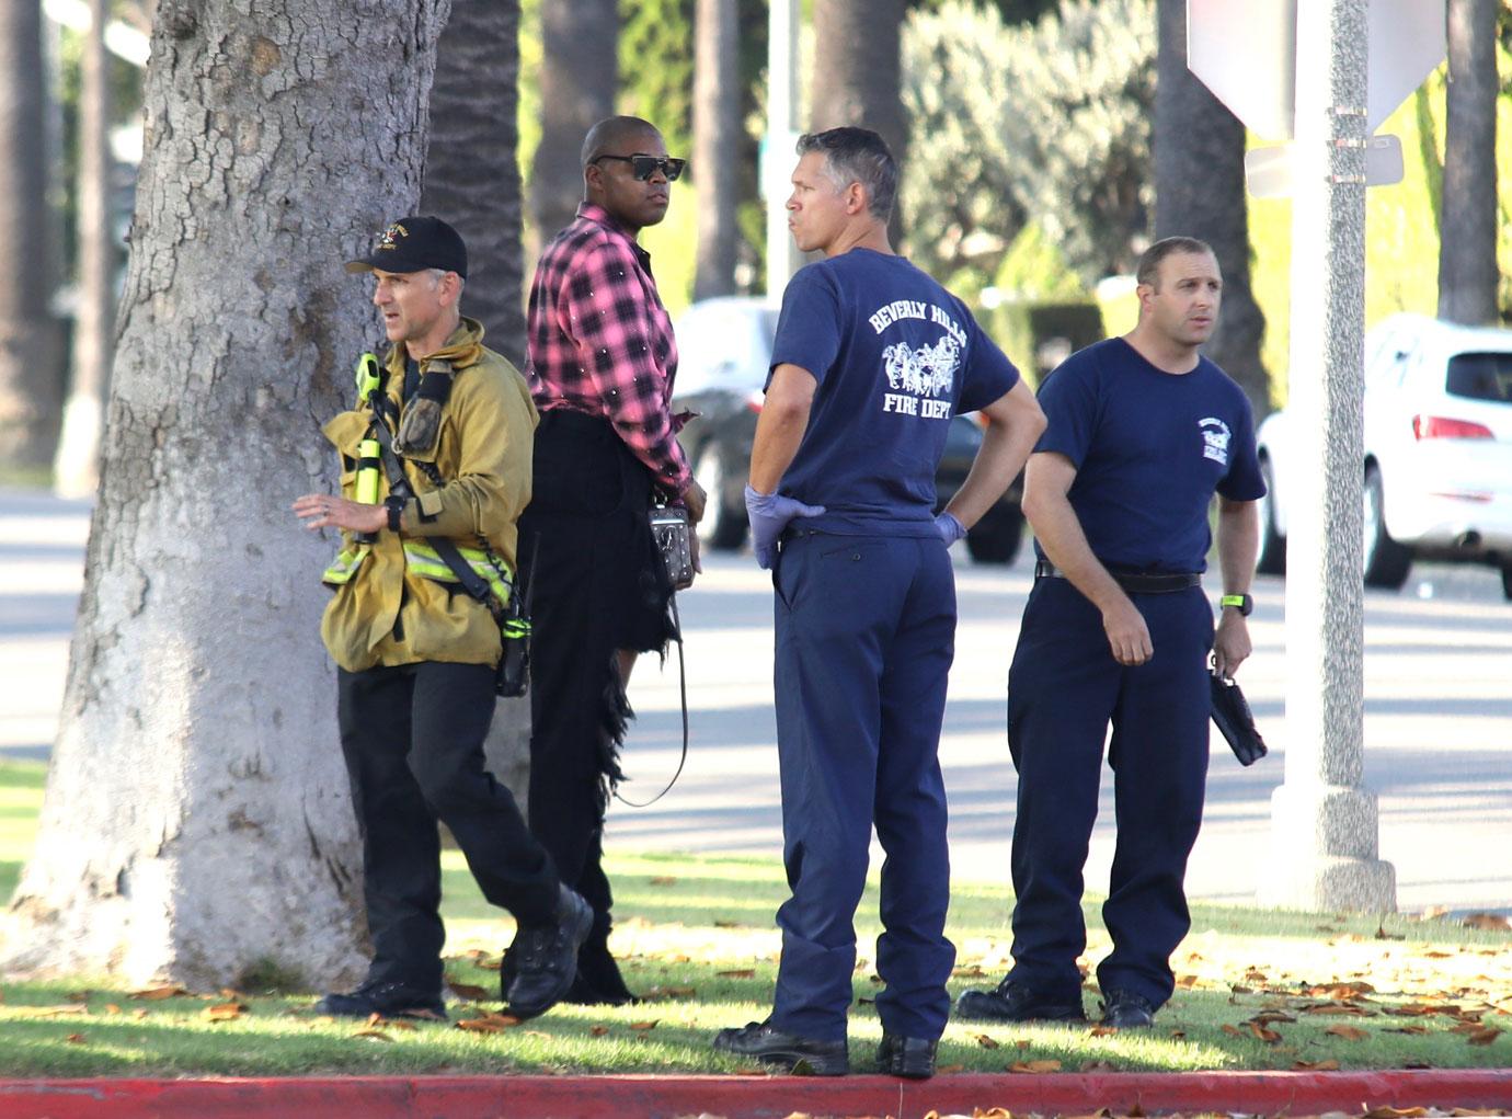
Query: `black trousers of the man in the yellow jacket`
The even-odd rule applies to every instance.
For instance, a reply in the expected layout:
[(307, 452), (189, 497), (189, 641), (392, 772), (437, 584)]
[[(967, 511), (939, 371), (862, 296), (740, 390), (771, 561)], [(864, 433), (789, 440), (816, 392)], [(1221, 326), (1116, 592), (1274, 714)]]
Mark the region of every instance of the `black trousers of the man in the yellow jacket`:
[(363, 835), (367, 978), (442, 986), (446, 821), (482, 895), (520, 924), (555, 918), (556, 871), (510, 791), (484, 768), (493, 668), (422, 662), (337, 673), (342, 753)]

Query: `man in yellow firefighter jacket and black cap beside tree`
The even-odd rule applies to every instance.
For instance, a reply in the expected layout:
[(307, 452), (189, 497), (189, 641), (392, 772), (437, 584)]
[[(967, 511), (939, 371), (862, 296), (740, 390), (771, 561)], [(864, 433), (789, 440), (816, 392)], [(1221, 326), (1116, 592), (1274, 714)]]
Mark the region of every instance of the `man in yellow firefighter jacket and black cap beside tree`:
[[(593, 910), (561, 885), (484, 765), (499, 621), (445, 555), (449, 541), (454, 563), (503, 603), (516, 519), (531, 499), (535, 408), (519, 370), (461, 318), (467, 251), (451, 225), (402, 218), (348, 271), (373, 275), (392, 349), (373, 370), (378, 392), (324, 428), (340, 454), (342, 494), (305, 494), (293, 508), (311, 529), (343, 532), (325, 572), (334, 597), (321, 637), (337, 664), (373, 959), (360, 987), (318, 1009), (445, 1016), (442, 820), (484, 897), (517, 921), (520, 966), (503, 1001), (538, 1015), (572, 984)], [(375, 469), (376, 479), (364, 476)]]

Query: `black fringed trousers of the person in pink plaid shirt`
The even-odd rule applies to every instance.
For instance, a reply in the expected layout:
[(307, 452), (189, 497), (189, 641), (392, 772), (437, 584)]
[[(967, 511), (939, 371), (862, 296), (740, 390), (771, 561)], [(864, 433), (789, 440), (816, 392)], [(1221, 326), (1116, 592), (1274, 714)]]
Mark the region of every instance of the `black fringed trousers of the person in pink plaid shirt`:
[(546, 411), (520, 517), (531, 597), (531, 830), (609, 935), (603, 815), (629, 705), (615, 650), (661, 649), (670, 587), (646, 510), (652, 479), (608, 420)]

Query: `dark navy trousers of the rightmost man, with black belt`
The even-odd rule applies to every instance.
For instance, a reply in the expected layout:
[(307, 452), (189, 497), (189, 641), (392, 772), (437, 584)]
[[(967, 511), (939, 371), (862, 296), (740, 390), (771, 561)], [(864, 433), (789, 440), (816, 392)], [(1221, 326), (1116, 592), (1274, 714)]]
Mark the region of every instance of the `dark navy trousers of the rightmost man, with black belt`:
[(1208, 771), (1213, 609), (1201, 587), (1131, 597), (1155, 647), (1137, 667), (1113, 659), (1102, 614), (1066, 579), (1036, 581), (1024, 611), (1009, 671), (1019, 771), (1010, 978), (1048, 995), (1080, 992), (1083, 868), (1107, 741), (1117, 845), (1102, 906), (1113, 953), (1098, 984), (1158, 1007), (1175, 986), (1170, 953), (1191, 925), (1182, 879)]

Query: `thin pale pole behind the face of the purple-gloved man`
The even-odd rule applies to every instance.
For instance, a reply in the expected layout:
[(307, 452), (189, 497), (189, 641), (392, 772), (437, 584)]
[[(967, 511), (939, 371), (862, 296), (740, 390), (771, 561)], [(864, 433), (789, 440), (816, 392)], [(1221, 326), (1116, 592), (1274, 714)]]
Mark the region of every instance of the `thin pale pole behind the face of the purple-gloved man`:
[(767, 24), (767, 141), (762, 145), (762, 194), (767, 198), (767, 293), (776, 299), (803, 265), (788, 233), (788, 180), (798, 157), (798, 24), (800, 0), (771, 0)]

